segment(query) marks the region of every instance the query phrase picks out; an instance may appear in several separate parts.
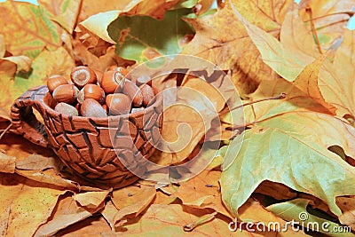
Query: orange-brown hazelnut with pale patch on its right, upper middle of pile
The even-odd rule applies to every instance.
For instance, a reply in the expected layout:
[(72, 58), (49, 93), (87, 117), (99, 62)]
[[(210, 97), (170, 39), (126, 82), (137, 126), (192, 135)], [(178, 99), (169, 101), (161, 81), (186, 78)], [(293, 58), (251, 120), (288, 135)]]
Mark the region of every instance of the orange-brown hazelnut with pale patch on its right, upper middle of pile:
[(101, 87), (106, 94), (118, 93), (122, 91), (124, 85), (124, 75), (119, 71), (106, 71), (102, 76)]

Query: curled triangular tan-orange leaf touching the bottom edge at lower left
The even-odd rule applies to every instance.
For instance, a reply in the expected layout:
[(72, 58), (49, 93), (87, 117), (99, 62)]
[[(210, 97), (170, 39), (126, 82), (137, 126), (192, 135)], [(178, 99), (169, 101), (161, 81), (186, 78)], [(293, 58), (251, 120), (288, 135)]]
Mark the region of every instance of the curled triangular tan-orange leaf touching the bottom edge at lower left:
[(66, 228), (68, 225), (75, 224), (87, 217), (91, 217), (104, 205), (100, 205), (95, 209), (88, 209), (80, 206), (72, 196), (64, 197), (59, 200), (55, 211), (52, 213), (51, 220), (41, 225), (36, 231), (35, 236), (50, 236), (59, 230)]

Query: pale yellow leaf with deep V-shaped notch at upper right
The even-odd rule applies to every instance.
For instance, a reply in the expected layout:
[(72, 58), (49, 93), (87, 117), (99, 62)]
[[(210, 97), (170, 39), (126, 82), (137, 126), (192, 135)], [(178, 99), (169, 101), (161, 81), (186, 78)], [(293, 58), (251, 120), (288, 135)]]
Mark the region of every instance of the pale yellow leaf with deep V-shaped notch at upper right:
[[(295, 8), (295, 4), (293, 5)], [(235, 9), (234, 9), (235, 10)], [(291, 9), (292, 10), (292, 9)], [(243, 26), (248, 32), (248, 36), (255, 43), (257, 50), (261, 53), (264, 63), (281, 75), (286, 80), (292, 82), (299, 75), (306, 65), (309, 65), (314, 60), (308, 53), (304, 53), (303, 45), (305, 43), (305, 49), (311, 49), (312, 35), (304, 27), (304, 22), (298, 16), (298, 12), (292, 10), (288, 12), (281, 28), (281, 42), (271, 33), (268, 33), (263, 28), (258, 28), (251, 22), (242, 18), (241, 12), (235, 12), (239, 19), (243, 22)], [(289, 30), (290, 28), (291, 30)], [(298, 36), (301, 34), (301, 36)], [(300, 37), (302, 40), (299, 40)], [(282, 40), (286, 42), (283, 44)], [(304, 40), (307, 40), (304, 42)], [(301, 43), (298, 43), (301, 41)], [(302, 46), (301, 46), (302, 45)], [(307, 46), (310, 45), (310, 46)], [(316, 51), (315, 51), (316, 52)], [(318, 58), (319, 54), (316, 54)], [(270, 80), (270, 79), (269, 79)]]

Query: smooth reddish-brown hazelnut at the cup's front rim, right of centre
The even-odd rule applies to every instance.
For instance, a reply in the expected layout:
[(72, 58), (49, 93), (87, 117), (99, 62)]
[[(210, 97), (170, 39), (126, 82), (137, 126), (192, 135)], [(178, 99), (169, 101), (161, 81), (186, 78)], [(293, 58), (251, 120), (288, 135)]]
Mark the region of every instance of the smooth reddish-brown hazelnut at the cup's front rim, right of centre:
[(108, 115), (130, 114), (130, 98), (122, 93), (114, 93), (106, 96)]

